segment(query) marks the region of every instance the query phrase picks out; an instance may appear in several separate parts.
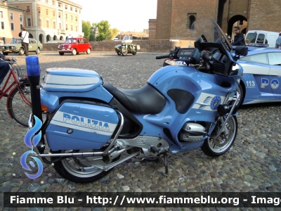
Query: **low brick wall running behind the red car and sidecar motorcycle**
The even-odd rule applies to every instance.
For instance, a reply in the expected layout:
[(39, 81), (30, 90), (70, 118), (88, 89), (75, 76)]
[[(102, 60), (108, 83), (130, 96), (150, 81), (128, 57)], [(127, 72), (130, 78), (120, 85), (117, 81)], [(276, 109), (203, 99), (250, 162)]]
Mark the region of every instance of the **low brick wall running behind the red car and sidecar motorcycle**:
[[(121, 41), (90, 41), (92, 51), (115, 51), (115, 46), (121, 44)], [(160, 40), (143, 40), (133, 41), (133, 44), (141, 46), (139, 52), (162, 52), (169, 53), (175, 46), (188, 47), (194, 44), (194, 40), (169, 41), (168, 39)], [(43, 51), (58, 51), (58, 43), (43, 44)]]

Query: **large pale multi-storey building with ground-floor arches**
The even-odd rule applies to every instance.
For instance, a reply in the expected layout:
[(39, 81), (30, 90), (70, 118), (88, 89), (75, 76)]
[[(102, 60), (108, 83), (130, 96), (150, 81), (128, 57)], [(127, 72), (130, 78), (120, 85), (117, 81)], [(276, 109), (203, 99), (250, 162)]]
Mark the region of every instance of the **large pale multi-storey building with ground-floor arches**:
[(84, 37), (81, 6), (68, 0), (8, 0), (8, 6), (24, 10), (23, 25), (41, 43)]

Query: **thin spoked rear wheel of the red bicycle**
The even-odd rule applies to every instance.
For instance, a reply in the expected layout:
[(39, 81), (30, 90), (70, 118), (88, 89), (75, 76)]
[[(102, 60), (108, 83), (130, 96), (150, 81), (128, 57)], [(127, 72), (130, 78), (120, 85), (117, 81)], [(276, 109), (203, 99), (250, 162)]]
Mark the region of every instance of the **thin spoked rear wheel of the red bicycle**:
[[(30, 89), (27, 84), (20, 85), (20, 91), (14, 89), (8, 97), (8, 110), (15, 121), (28, 127), (28, 119), (32, 113)], [(22, 93), (22, 96), (20, 96)], [(25, 102), (23, 100), (25, 98)]]

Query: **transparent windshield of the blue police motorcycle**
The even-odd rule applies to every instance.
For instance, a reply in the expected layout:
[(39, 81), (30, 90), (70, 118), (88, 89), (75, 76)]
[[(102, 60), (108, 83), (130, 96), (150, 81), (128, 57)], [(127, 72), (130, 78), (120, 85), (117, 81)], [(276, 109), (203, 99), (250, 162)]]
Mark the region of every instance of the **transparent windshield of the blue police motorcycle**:
[(191, 32), (194, 37), (202, 37), (206, 42), (218, 42), (221, 40), (224, 48), (231, 51), (228, 37), (223, 33), (221, 27), (211, 18), (200, 18), (191, 25)]

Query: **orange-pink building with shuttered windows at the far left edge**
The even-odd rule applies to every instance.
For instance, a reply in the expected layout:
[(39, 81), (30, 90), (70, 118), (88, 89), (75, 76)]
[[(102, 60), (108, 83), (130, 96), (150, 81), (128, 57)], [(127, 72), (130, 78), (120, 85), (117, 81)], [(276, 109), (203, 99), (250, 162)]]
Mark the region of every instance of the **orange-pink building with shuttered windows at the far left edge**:
[(6, 2), (0, 3), (0, 37), (8, 44), (12, 37), (18, 37), (23, 27), (24, 10), (7, 6)]

